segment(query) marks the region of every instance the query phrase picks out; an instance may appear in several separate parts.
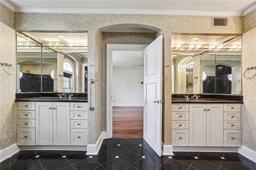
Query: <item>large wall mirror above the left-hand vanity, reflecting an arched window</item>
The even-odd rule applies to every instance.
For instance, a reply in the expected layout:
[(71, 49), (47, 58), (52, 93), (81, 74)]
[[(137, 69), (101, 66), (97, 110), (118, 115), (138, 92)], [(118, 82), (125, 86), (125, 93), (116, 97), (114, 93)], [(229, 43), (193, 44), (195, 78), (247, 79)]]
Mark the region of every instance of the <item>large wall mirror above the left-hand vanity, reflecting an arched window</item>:
[(24, 32), (17, 40), (17, 93), (87, 93), (86, 32)]

